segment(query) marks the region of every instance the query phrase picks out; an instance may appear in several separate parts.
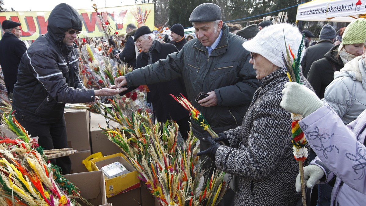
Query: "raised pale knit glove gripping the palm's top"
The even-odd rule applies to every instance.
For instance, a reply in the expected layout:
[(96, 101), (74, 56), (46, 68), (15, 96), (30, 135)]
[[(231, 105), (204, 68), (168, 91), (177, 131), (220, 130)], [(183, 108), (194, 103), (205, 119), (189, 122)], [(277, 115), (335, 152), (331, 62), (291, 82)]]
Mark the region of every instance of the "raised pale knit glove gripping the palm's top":
[(324, 105), (313, 91), (296, 82), (287, 82), (282, 94), (280, 103), (282, 108), (303, 117), (310, 115)]

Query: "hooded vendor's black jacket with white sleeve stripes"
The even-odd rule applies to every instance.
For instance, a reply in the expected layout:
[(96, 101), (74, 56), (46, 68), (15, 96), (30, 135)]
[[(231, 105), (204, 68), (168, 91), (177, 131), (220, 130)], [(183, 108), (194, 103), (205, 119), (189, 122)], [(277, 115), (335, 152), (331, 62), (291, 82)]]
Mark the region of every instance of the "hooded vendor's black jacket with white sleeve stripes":
[(66, 30), (81, 30), (79, 14), (67, 4), (56, 7), (48, 18), (48, 33), (38, 37), (20, 60), (14, 86), (13, 109), (40, 123), (59, 121), (65, 103), (94, 101), (94, 90), (86, 89), (78, 77), (77, 47), (63, 44)]

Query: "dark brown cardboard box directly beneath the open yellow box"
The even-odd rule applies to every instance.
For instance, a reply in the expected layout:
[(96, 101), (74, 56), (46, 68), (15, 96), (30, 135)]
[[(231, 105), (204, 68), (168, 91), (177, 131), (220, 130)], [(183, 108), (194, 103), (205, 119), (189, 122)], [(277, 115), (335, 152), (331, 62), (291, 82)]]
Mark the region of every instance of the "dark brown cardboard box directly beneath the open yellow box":
[(117, 206), (143, 206), (141, 204), (140, 188), (107, 198), (107, 202)]

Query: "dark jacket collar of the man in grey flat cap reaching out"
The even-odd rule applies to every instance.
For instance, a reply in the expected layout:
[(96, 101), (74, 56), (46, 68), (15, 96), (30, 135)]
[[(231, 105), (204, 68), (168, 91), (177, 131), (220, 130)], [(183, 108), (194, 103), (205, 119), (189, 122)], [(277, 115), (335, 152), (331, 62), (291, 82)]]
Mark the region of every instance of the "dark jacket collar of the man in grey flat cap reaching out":
[[(227, 46), (229, 42), (229, 27), (225, 23), (223, 23), (223, 27), (221, 28), (221, 30), (223, 31), (223, 34), (221, 35), (219, 44), (212, 51), (211, 56), (222, 55), (224, 52), (228, 50)], [(206, 46), (203, 46), (202, 43), (198, 40), (198, 38), (196, 39), (196, 42), (193, 44), (193, 48), (207, 52)]]

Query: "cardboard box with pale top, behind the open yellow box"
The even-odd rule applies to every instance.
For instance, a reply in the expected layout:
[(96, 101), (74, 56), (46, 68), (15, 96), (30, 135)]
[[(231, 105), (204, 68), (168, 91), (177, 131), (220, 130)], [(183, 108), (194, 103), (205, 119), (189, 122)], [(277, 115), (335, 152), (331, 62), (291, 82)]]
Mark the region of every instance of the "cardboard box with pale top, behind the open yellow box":
[[(105, 117), (100, 114), (91, 113), (90, 115), (90, 139), (91, 152), (101, 152), (103, 156), (120, 153), (121, 149), (115, 143), (110, 141), (106, 134), (102, 133), (101, 127), (107, 128)], [(109, 121), (110, 128), (119, 127), (120, 124), (115, 121)]]

